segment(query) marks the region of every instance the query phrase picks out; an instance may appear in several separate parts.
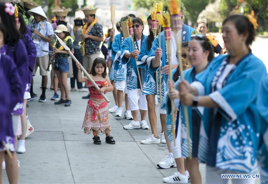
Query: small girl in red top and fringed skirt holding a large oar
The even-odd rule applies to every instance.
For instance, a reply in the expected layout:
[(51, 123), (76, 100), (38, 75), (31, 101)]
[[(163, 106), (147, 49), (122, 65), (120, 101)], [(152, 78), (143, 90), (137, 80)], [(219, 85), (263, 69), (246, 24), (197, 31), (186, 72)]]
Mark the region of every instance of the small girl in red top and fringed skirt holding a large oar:
[(89, 72), (91, 78), (99, 86), (99, 91), (97, 91), (91, 81), (88, 81), (88, 78), (82, 77), (80, 71), (81, 64), (77, 63), (76, 66), (79, 70), (77, 74), (78, 81), (87, 82), (90, 93), (90, 99), (88, 100), (85, 119), (82, 126), (82, 128), (84, 128), (84, 133), (90, 134), (91, 131), (93, 132), (94, 137), (92, 139), (94, 140), (94, 144), (102, 143), (98, 136), (99, 133), (106, 134), (105, 142), (115, 144), (113, 137), (110, 136), (111, 125), (109, 121), (108, 104), (101, 95), (101, 93), (113, 91), (113, 86), (106, 73), (106, 61), (100, 57), (96, 58)]

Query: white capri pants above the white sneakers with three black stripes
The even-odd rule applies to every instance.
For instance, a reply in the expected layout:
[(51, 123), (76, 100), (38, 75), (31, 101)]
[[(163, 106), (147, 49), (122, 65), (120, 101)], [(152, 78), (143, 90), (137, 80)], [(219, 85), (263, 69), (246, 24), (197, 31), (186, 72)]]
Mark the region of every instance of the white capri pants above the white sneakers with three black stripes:
[[(177, 117), (178, 118), (178, 117)], [(176, 118), (176, 119), (177, 119)], [(172, 150), (172, 153), (173, 153), (173, 157), (174, 158), (181, 158), (182, 157), (182, 154), (181, 154), (181, 115), (179, 116), (179, 125), (178, 125), (178, 129), (177, 129), (177, 137), (176, 137), (176, 146), (174, 146), (174, 141), (169, 141), (169, 145), (170, 145), (170, 148)], [(176, 122), (176, 120), (175, 120)], [(176, 127), (176, 125), (175, 125)]]

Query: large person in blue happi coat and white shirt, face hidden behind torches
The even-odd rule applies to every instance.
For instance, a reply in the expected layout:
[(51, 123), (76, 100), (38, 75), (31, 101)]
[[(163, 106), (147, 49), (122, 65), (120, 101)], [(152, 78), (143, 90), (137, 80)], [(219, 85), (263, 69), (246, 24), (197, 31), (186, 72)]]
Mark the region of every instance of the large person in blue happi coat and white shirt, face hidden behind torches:
[[(183, 18), (183, 10), (184, 7), (181, 8), (180, 16)], [(179, 41), (182, 42), (188, 42), (191, 39), (191, 33), (192, 32), (197, 32), (194, 28), (191, 28), (190, 26), (186, 26), (185, 24), (182, 24), (182, 29), (178, 31), (177, 35), (174, 36), (174, 32), (171, 32), (171, 61), (172, 61), (172, 69), (177, 68), (178, 66), (178, 61), (176, 57), (176, 42), (175, 38), (179, 39)], [(161, 32), (161, 45), (160, 48), (158, 48), (158, 40), (159, 37), (157, 36), (152, 43), (152, 49), (149, 53), (149, 56), (147, 58), (147, 65), (149, 72), (154, 73), (156, 71), (159, 71), (159, 62), (158, 59), (160, 58), (161, 60), (161, 88), (158, 84), (158, 102), (160, 102), (160, 90), (161, 90), (161, 99), (163, 99), (165, 92), (166, 92), (166, 83), (168, 79), (168, 73), (169, 73), (169, 66), (168, 66), (168, 58), (167, 58), (167, 48), (165, 45), (165, 38), (164, 38), (164, 32)], [(163, 51), (163, 54), (162, 54)], [(159, 72), (158, 72), (158, 83), (159, 83)], [(161, 139), (162, 137), (166, 137), (166, 110), (160, 109), (160, 106), (158, 106), (158, 110), (160, 113), (160, 121), (161, 121), (161, 126), (163, 130), (163, 134), (161, 134)], [(164, 139), (166, 140), (166, 138)], [(169, 155), (166, 156), (165, 158), (162, 159), (161, 162), (158, 163), (158, 167), (167, 169), (170, 167), (176, 166), (175, 160), (173, 158), (172, 150), (169, 147), (169, 143), (167, 141), (167, 146), (169, 148)]]

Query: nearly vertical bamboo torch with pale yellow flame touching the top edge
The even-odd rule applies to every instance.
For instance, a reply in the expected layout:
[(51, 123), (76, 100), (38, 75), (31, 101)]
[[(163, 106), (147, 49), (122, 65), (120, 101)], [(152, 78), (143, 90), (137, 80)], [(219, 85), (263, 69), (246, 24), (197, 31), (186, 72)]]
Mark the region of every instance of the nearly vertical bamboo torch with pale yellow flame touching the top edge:
[[(156, 12), (156, 15), (161, 15), (161, 10), (163, 9), (163, 5), (164, 5), (164, 1), (155, 1), (153, 6)], [(158, 30), (158, 48), (161, 48), (161, 23), (157, 20), (157, 30)], [(159, 63), (159, 96), (160, 96), (160, 103), (162, 100), (162, 81), (161, 81), (161, 63), (160, 63), (160, 58), (158, 59), (158, 63)]]

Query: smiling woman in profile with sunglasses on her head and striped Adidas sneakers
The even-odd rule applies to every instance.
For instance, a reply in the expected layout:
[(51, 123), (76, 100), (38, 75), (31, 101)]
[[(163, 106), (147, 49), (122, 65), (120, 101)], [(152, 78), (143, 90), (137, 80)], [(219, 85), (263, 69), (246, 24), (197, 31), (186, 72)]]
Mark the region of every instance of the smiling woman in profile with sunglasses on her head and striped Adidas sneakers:
[[(185, 43), (183, 43), (185, 45)], [(183, 49), (182, 49), (183, 51)], [(183, 52), (182, 52), (183, 54)], [(193, 66), (192, 68), (185, 70), (183, 72), (184, 80), (188, 82), (192, 82), (196, 74), (205, 70), (208, 66), (209, 62), (213, 59), (213, 52), (212, 52), (212, 45), (209, 43), (209, 40), (202, 34), (199, 35), (192, 35), (191, 41), (188, 45), (188, 52), (187, 52), (187, 59)], [(183, 60), (182, 60), (183, 61)], [(176, 71), (173, 70), (173, 76), (176, 75)], [(169, 99), (175, 100), (174, 103), (177, 101), (179, 107), (177, 111), (177, 118), (176, 118), (176, 146), (174, 146), (173, 140), (169, 139), (170, 147), (172, 149), (172, 153), (174, 155), (175, 161), (177, 163), (178, 172), (170, 177), (166, 177), (163, 179), (164, 182), (170, 183), (174, 177), (179, 177), (181, 180), (185, 178), (184, 175), (180, 173), (180, 170), (184, 169), (184, 158), (186, 158), (186, 166), (190, 174), (191, 183), (201, 183), (201, 174), (199, 172), (199, 163), (197, 158), (197, 150), (198, 150), (198, 141), (199, 141), (199, 130), (201, 124), (201, 114), (202, 108), (191, 109), (188, 107), (188, 116), (189, 116), (189, 128), (190, 128), (190, 142), (191, 142), (191, 152), (192, 152), (192, 159), (189, 159), (189, 152), (188, 152), (188, 144), (187, 144), (187, 135), (186, 135), (186, 124), (185, 124), (185, 117), (184, 117), (184, 107), (179, 103), (179, 92), (177, 91), (177, 84), (179, 83), (180, 76), (177, 73), (178, 80), (175, 81), (168, 81), (169, 89), (170, 87), (173, 90), (169, 90)], [(175, 76), (175, 77), (177, 77)], [(173, 79), (176, 79), (173, 77)], [(175, 84), (174, 84), (175, 82)], [(172, 125), (172, 116), (170, 112), (170, 108), (168, 104), (170, 101), (166, 102), (167, 106), (167, 135), (168, 137), (173, 138), (170, 135), (170, 128)], [(185, 168), (186, 170), (186, 168)], [(187, 172), (186, 172), (187, 173)], [(188, 173), (187, 173), (188, 174)], [(185, 180), (186, 181), (186, 180)], [(188, 182), (188, 180), (187, 180)], [(187, 183), (186, 182), (186, 183)]]

